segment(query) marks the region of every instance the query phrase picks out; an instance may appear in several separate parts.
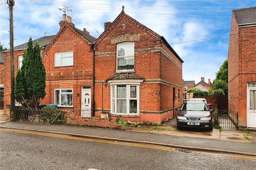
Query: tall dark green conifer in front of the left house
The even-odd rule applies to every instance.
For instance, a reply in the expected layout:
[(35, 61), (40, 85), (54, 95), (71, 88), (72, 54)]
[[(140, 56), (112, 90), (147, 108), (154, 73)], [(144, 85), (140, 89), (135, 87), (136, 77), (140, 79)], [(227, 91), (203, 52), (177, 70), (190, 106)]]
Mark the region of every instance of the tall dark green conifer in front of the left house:
[(27, 51), (23, 55), (21, 69), (15, 78), (14, 96), (22, 107), (37, 108), (45, 97), (46, 73), (39, 49), (36, 43), (33, 48), (31, 37)]

